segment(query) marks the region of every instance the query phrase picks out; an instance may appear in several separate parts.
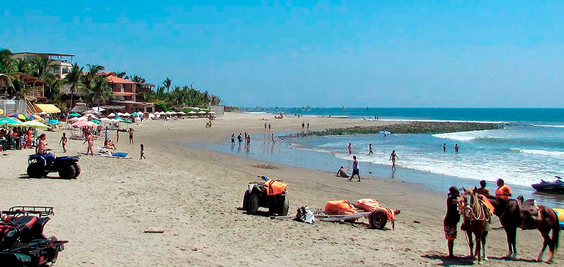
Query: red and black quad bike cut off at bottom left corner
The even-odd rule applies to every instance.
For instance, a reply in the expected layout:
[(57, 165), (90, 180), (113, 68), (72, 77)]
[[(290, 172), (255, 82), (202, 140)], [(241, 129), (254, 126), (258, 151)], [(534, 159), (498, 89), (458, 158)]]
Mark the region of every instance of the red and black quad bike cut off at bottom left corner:
[(43, 227), (54, 215), (52, 207), (11, 207), (0, 213), (2, 266), (51, 266), (68, 241), (46, 237)]

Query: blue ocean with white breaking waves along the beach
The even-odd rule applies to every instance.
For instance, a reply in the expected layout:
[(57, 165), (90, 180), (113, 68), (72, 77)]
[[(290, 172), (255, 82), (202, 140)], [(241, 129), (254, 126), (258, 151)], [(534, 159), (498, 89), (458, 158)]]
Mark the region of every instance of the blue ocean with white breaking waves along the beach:
[[(361, 175), (391, 177), (426, 183), (429, 187), (450, 186), (452, 181), (478, 184), (499, 178), (522, 192), (532, 194), (531, 184), (564, 175), (564, 109), (462, 109), (462, 108), (320, 108), (280, 109), (288, 115), (342, 116), (353, 119), (390, 121), (472, 121), (503, 123), (499, 130), (440, 134), (394, 134), (311, 136), (284, 139), (271, 147), (267, 136), (253, 136), (257, 148), (237, 152), (229, 147), (216, 149), (300, 167), (316, 166), (336, 171), (340, 165), (351, 168), (347, 146), (360, 161)], [(276, 109), (248, 110), (276, 114)], [(446, 153), (442, 144), (447, 146)], [(373, 155), (368, 155), (368, 144)], [(455, 154), (455, 144), (460, 146)], [(228, 141), (226, 142), (228, 145)], [(391, 176), (389, 155), (396, 150), (396, 171)], [(306, 162), (306, 164), (304, 164)], [(339, 166), (336, 166), (339, 165)], [(334, 169), (334, 170), (333, 170)], [(434, 181), (429, 181), (434, 180)], [(431, 183), (432, 182), (432, 183)], [(439, 183), (439, 184), (437, 184)], [(495, 183), (489, 183), (495, 188)], [(440, 190), (446, 188), (440, 188)], [(561, 197), (541, 195), (545, 202), (562, 204)]]

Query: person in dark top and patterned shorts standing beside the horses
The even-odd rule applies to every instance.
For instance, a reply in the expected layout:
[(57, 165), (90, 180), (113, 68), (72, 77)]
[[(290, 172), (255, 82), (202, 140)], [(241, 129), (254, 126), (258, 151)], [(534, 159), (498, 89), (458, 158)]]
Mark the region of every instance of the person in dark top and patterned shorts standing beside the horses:
[(460, 214), (458, 212), (458, 198), (460, 197), (460, 192), (456, 186), (451, 186), (448, 188), (447, 195), (447, 214), (444, 216), (443, 228), (444, 228), (444, 238), (447, 239), (448, 246), (448, 257), (453, 258), (453, 250), (455, 247), (456, 239), (456, 228), (460, 222)]

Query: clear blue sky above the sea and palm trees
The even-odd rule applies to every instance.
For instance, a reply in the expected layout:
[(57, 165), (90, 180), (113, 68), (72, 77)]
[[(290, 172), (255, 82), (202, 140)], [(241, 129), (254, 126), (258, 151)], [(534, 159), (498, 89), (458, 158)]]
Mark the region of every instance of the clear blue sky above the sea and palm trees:
[[(168, 2), (168, 3), (160, 3)], [(562, 108), (558, 1), (12, 1), (0, 47), (236, 106)]]

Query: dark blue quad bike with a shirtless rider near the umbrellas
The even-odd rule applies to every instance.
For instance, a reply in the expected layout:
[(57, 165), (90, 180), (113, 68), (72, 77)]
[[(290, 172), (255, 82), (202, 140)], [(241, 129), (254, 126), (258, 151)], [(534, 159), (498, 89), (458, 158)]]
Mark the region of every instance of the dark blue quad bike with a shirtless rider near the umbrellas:
[(61, 179), (76, 179), (80, 175), (78, 156), (55, 157), (49, 153), (33, 154), (28, 158), (28, 176), (30, 178), (43, 178), (50, 172), (59, 172)]

